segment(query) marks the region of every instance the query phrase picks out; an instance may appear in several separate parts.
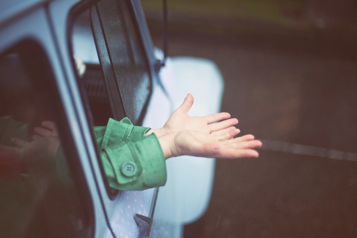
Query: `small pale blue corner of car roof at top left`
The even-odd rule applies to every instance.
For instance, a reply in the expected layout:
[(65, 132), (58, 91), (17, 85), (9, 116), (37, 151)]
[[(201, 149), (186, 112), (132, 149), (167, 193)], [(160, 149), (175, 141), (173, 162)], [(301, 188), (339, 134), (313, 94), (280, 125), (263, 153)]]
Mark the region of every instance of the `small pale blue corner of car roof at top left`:
[(52, 0), (0, 0), (0, 27), (49, 1)]

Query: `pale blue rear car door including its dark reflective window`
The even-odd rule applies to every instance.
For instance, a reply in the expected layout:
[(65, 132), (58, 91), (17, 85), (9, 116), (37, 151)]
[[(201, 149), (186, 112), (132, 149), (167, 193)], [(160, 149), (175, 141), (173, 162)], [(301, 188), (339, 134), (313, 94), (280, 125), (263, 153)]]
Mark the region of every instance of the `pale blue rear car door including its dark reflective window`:
[(1, 237), (110, 235), (46, 6), (16, 3), (0, 7)]

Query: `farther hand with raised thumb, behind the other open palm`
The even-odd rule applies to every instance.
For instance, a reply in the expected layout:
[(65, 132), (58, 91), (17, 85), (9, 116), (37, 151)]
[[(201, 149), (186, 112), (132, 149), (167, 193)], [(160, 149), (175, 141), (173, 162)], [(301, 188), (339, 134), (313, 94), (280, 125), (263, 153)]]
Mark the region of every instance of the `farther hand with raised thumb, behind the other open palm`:
[(193, 103), (193, 96), (188, 94), (181, 106), (172, 113), (163, 127), (160, 129), (152, 129), (146, 135), (155, 133), (156, 136), (163, 136), (177, 131), (192, 130), (204, 134), (212, 133), (212, 135), (219, 137), (230, 132), (232, 135), (230, 138), (232, 138), (240, 132), (239, 129), (234, 127), (234, 125), (238, 123), (238, 120), (235, 118), (230, 119), (231, 115), (226, 112), (216, 113), (205, 117), (188, 116), (188, 112)]

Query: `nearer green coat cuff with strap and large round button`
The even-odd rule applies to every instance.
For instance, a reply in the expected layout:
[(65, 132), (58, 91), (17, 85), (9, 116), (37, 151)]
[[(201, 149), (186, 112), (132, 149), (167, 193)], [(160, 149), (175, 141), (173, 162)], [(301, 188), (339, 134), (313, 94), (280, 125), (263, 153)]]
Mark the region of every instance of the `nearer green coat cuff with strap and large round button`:
[(101, 157), (110, 187), (143, 190), (166, 183), (165, 158), (154, 134), (125, 139), (105, 148)]

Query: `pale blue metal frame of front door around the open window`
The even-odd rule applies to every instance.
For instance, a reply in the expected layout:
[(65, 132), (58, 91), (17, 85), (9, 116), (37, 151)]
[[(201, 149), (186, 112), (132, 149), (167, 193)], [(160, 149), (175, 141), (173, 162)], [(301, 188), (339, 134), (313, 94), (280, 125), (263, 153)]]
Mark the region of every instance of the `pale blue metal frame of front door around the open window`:
[[(115, 198), (111, 198), (107, 192), (106, 182), (104, 181), (103, 174), (100, 169), (100, 164), (98, 161), (98, 153), (94, 146), (93, 142), (93, 134), (90, 129), (90, 122), (88, 119), (88, 115), (83, 106), (83, 99), (81, 98), (80, 90), (78, 88), (77, 80), (76, 80), (76, 72), (74, 67), (74, 60), (71, 54), (71, 24), (74, 18), (77, 16), (78, 12), (83, 11), (85, 8), (97, 2), (98, 0), (84, 0), (84, 1), (73, 1), (73, 0), (61, 0), (61, 1), (53, 1), (48, 5), (49, 17), (51, 18), (51, 23), (53, 24), (54, 29), (54, 38), (56, 38), (56, 42), (58, 44), (58, 54), (63, 59), (63, 69), (67, 72), (68, 76), (68, 86), (71, 90), (71, 95), (73, 99), (73, 104), (77, 108), (77, 118), (78, 118), (78, 130), (81, 131), (81, 136), (83, 137), (84, 147), (87, 150), (91, 169), (93, 171), (93, 176), (96, 181), (96, 186), (98, 188), (98, 194), (101, 198), (102, 205), (104, 208), (104, 213), (106, 216), (106, 221), (108, 223), (109, 229), (112, 231), (114, 236), (115, 229), (113, 225), (115, 225), (114, 217), (115, 213), (118, 213), (118, 206), (123, 203), (123, 199), (126, 194), (131, 194), (137, 191), (123, 191), (119, 193)], [(143, 44), (143, 48), (145, 51), (145, 57), (148, 62), (149, 73), (151, 77), (151, 81), (157, 81), (158, 74), (154, 70), (154, 64), (156, 63), (153, 51), (150, 36), (148, 34), (148, 30), (146, 28), (145, 18), (143, 17), (143, 11), (138, 6), (140, 6), (140, 2), (138, 0), (130, 0), (133, 11), (136, 17), (136, 22), (139, 28), (139, 36), (141, 37), (140, 42)], [(66, 17), (66, 22), (63, 22), (63, 17)], [(150, 98), (148, 99), (150, 100)], [(140, 192), (140, 191), (139, 191)], [(146, 190), (146, 192), (150, 192), (151, 201), (149, 204), (148, 217), (152, 217), (154, 213), (154, 207), (156, 203), (157, 188), (152, 188)], [(130, 218), (130, 223), (135, 224), (134, 219)], [(130, 225), (131, 225), (130, 224)]]

